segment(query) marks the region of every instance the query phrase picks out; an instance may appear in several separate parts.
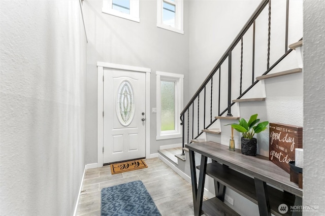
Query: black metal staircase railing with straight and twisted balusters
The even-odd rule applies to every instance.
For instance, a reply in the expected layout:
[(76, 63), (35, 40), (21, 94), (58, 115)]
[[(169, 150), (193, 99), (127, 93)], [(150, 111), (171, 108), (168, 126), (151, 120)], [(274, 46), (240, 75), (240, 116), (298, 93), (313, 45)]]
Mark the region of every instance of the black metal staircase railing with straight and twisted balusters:
[[(266, 7), (268, 6), (268, 7)], [(231, 107), (234, 105), (234, 102), (232, 102), (232, 53), (233, 50), (237, 45), (240, 46), (240, 83), (239, 83), (239, 94), (237, 99), (240, 99), (243, 95), (245, 95), (253, 86), (255, 86), (258, 82), (255, 81), (255, 39), (257, 35), (255, 35), (255, 20), (257, 17), (264, 11), (268, 10), (268, 42), (267, 42), (267, 59), (266, 59), (266, 68), (267, 70), (263, 75), (266, 75), (271, 71), (279, 62), (281, 62), (292, 50), (288, 49), (288, 15), (289, 15), (289, 0), (286, 0), (286, 20), (285, 20), (285, 39), (284, 39), (284, 44), (285, 44), (285, 52), (284, 54), (270, 66), (270, 41), (271, 41), (271, 0), (263, 0), (261, 4), (257, 7), (257, 9), (254, 11), (254, 13), (251, 15), (249, 20), (246, 22), (244, 27), (241, 29), (239, 34), (237, 35), (236, 39), (232, 42), (230, 47), (224, 52), (220, 60), (217, 62), (217, 64), (213, 67), (211, 70), (209, 76), (205, 79), (205, 81), (202, 83), (200, 88), (197, 90), (197, 92), (194, 94), (194, 96), (189, 100), (187, 105), (184, 107), (184, 110), (180, 114), (180, 120), (181, 120), (181, 125), (182, 125), (182, 144), (184, 147), (185, 143), (185, 136), (187, 137), (187, 143), (190, 143), (190, 138), (191, 139), (196, 139), (199, 137), (203, 132), (200, 132), (200, 128), (207, 129), (209, 128), (215, 121), (216, 119), (212, 117), (212, 110), (214, 109), (213, 103), (215, 103), (215, 96), (213, 95), (213, 88), (215, 85), (214, 82), (214, 76), (216, 79), (218, 79), (217, 82), (217, 90), (218, 90), (218, 101), (217, 101), (217, 106), (218, 106), (218, 116), (222, 116), (226, 112), (226, 116), (232, 116), (231, 112)], [(243, 38), (246, 32), (252, 27), (252, 79), (251, 79), (251, 84), (250, 86), (243, 91)], [(240, 42), (240, 44), (239, 44)], [(223, 73), (224, 70), (226, 70), (227, 66), (224, 66), (224, 64), (227, 63), (228, 60), (228, 82), (223, 81), (221, 83), (221, 74)], [(223, 66), (222, 66), (223, 65)], [(221, 67), (222, 66), (222, 67)], [(217, 74), (218, 73), (218, 74)], [(217, 74), (217, 75), (216, 75)], [(221, 91), (224, 88), (221, 88), (221, 85), (228, 84), (227, 92), (225, 94), (221, 94)], [(249, 85), (249, 84), (248, 84)], [(210, 88), (210, 89), (209, 89)], [(207, 92), (210, 93), (210, 118), (208, 122), (206, 122), (206, 103), (207, 103)], [(201, 95), (201, 99), (200, 99)], [(223, 101), (223, 104), (226, 103), (226, 108), (224, 110), (220, 110), (220, 102), (222, 102), (220, 99), (223, 95), (227, 95), (226, 102), (225, 100)], [(200, 109), (200, 101), (202, 100), (203, 97), (203, 109)], [(203, 115), (200, 115), (200, 112), (203, 110)], [(197, 130), (194, 130), (194, 112), (197, 111)], [(187, 113), (187, 135), (185, 134), (185, 114)], [(191, 115), (190, 115), (191, 113)], [(191, 116), (191, 125), (190, 125), (190, 116)], [(200, 116), (203, 116), (203, 121), (200, 121)], [(201, 126), (201, 127), (200, 127)], [(191, 134), (190, 134), (190, 127), (191, 127)], [(184, 151), (183, 151), (184, 154)]]

